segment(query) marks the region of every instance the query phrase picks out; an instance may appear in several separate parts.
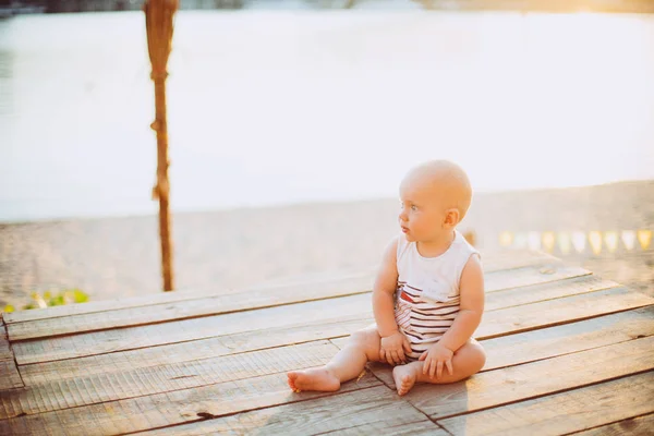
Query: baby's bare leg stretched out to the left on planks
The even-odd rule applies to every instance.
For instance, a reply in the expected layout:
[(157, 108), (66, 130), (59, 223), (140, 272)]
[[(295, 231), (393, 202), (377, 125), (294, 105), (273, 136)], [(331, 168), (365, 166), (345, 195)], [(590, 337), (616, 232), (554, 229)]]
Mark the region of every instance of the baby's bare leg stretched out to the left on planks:
[(338, 390), (342, 382), (358, 377), (366, 362), (379, 360), (379, 344), (377, 326), (355, 331), (346, 347), (325, 366), (288, 373), (289, 386), (295, 391)]

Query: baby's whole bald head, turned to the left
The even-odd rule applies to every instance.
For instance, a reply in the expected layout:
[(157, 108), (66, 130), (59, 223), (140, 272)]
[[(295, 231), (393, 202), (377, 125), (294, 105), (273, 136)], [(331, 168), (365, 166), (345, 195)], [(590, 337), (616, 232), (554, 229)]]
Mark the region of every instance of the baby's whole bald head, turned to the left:
[(439, 241), (463, 219), (472, 199), (465, 171), (447, 160), (411, 169), (400, 184), (400, 226), (408, 241)]

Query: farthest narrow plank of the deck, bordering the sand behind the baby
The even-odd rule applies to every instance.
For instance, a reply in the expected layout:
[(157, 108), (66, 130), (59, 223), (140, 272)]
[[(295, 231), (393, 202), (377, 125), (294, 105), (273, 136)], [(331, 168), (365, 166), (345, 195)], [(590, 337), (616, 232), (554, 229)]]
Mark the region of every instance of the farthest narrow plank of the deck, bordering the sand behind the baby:
[[(501, 269), (521, 268), (525, 266), (546, 266), (546, 265), (559, 265), (560, 261), (546, 253), (528, 251), (528, 250), (502, 250), (498, 252), (483, 253), (483, 268), (485, 272), (497, 271)], [(246, 289), (211, 289), (211, 290), (180, 290), (175, 292), (160, 292), (148, 295), (140, 295), (132, 298), (123, 298), (116, 300), (104, 300), (93, 301), (82, 304), (68, 304), (62, 306), (37, 308), (31, 311), (19, 311), (5, 314), (5, 323), (13, 324), (27, 320), (55, 318), (70, 315), (81, 315), (98, 312), (114, 311), (120, 308), (133, 308), (144, 307), (149, 305), (158, 304), (170, 304), (182, 301), (192, 301), (206, 299), (207, 296), (214, 296), (218, 294), (232, 294), (232, 293), (249, 293), (252, 290), (263, 290), (271, 288), (288, 288), (298, 286), (329, 286), (332, 283), (337, 286), (340, 282), (348, 282), (352, 279), (361, 279), (362, 277), (372, 277), (376, 267), (371, 266), (363, 268), (362, 270), (350, 270), (350, 271), (329, 271), (322, 272), (319, 275), (312, 275), (310, 277), (279, 279), (275, 282), (265, 282), (255, 287), (249, 287)], [(371, 281), (372, 282), (372, 281)], [(271, 290), (275, 292), (275, 290)]]

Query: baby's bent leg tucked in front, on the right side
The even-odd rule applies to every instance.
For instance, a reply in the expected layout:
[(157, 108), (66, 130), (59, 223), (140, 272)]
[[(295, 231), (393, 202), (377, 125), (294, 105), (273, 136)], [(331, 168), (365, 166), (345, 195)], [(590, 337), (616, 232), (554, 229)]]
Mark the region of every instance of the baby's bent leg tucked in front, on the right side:
[(411, 362), (407, 365), (396, 366), (392, 370), (392, 377), (396, 383), (399, 395), (404, 395), (411, 390), (415, 382), (446, 384), (455, 383), (470, 377), (480, 372), (486, 363), (486, 353), (482, 346), (474, 339), (470, 339), (463, 347), (455, 353), (452, 358), (453, 375), (450, 375), (447, 367), (443, 368), (440, 378), (429, 378), (429, 374), (423, 374), (424, 361)]

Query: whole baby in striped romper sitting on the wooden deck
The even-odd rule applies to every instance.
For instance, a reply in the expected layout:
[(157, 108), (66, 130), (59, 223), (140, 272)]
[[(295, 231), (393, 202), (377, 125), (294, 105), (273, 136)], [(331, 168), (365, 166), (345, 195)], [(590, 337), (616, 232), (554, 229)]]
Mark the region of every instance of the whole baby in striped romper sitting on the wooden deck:
[(338, 390), (373, 361), (395, 366), (402, 396), (416, 382), (458, 382), (484, 366), (484, 350), (471, 338), (484, 311), (481, 259), (457, 230), (471, 198), (456, 164), (409, 171), (400, 185), (402, 233), (386, 249), (373, 287), (376, 324), (354, 332), (325, 366), (288, 373), (291, 389)]

